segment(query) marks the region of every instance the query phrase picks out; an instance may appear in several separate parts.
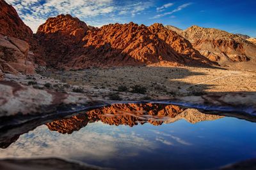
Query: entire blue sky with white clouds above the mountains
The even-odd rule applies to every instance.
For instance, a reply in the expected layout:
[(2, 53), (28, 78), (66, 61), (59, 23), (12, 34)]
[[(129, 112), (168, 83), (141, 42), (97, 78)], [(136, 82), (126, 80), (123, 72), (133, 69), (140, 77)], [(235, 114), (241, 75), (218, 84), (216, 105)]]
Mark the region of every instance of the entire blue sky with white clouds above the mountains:
[(36, 32), (49, 17), (70, 14), (88, 25), (110, 23), (151, 25), (156, 22), (186, 29), (214, 27), (256, 37), (255, 0), (6, 0)]

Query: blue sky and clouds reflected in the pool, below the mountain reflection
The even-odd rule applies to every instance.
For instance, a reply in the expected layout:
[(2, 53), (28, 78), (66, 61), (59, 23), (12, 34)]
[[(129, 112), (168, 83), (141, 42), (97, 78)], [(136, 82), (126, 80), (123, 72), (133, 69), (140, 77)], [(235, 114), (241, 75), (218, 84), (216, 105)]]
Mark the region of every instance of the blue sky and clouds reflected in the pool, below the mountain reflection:
[(6, 157), (63, 157), (102, 167), (218, 167), (256, 157), (256, 124), (236, 118), (128, 127), (95, 122), (60, 134), (45, 125), (1, 150)]

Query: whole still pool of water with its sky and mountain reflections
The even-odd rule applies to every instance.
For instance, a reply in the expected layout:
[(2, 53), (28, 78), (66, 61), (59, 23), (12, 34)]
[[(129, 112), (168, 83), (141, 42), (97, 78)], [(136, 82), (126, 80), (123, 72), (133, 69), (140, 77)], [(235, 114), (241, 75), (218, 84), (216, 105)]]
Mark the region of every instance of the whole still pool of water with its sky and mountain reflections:
[(218, 169), (256, 157), (253, 122), (195, 110), (129, 110), (40, 125), (0, 149), (0, 158), (58, 157), (114, 169)]

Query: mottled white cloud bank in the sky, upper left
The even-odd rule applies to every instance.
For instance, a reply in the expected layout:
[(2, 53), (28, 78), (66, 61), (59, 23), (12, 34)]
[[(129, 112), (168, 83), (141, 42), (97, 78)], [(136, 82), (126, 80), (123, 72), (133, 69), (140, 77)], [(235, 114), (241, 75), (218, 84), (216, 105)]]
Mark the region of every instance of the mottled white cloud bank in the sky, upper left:
[[(8, 0), (19, 13), (20, 18), (33, 32), (49, 17), (70, 14), (84, 22), (95, 25), (122, 22), (123, 15), (135, 16), (153, 6), (153, 1), (132, 1), (119, 3), (115, 0)], [(117, 15), (122, 15), (116, 17)], [(116, 19), (117, 18), (117, 19)]]

